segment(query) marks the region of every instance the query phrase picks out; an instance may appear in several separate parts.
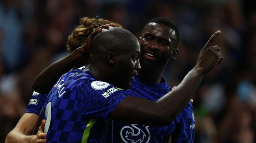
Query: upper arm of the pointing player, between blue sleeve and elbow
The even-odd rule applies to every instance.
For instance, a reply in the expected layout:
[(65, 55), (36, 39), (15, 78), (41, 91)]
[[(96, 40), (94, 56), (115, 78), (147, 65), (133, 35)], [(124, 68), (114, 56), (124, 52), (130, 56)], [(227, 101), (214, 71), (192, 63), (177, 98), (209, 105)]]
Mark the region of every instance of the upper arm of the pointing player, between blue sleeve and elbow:
[[(164, 109), (163, 109), (164, 110)], [(171, 123), (167, 115), (163, 115), (158, 103), (127, 96), (111, 112), (110, 117), (122, 122), (150, 126), (164, 126)]]

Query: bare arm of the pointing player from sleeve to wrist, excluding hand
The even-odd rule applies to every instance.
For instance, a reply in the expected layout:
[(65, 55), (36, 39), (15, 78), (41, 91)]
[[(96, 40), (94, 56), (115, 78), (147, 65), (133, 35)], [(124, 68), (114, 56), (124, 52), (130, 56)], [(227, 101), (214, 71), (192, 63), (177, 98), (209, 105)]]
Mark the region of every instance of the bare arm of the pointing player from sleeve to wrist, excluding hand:
[(170, 125), (187, 105), (203, 76), (200, 69), (192, 69), (175, 89), (155, 102), (127, 96), (111, 112), (110, 117), (126, 123), (149, 126)]

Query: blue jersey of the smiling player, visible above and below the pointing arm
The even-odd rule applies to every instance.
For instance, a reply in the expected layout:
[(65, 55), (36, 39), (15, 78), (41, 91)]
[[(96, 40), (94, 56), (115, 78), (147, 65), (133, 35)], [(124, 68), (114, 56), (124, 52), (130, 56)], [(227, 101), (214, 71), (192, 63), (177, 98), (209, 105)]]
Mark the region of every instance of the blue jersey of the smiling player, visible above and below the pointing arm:
[[(129, 90), (123, 91), (126, 96), (136, 96), (151, 101), (157, 101), (163, 95), (171, 91), (171, 87), (164, 81), (161, 83), (145, 84), (139, 80), (138, 76), (134, 76)], [(145, 125), (135, 125), (122, 123), (114, 120), (113, 142), (115, 143), (167, 143), (172, 135), (172, 143), (180, 141), (180, 138), (186, 139), (185, 142), (193, 142), (194, 128), (190, 129), (189, 125), (195, 121), (191, 120), (193, 108), (189, 103), (182, 113), (172, 122), (171, 125), (165, 127), (149, 127)], [(189, 119), (188, 119), (189, 118)], [(189, 122), (186, 122), (189, 121)], [(189, 130), (187, 130), (189, 129)], [(178, 134), (173, 134), (177, 132)], [(175, 140), (173, 140), (175, 138)]]

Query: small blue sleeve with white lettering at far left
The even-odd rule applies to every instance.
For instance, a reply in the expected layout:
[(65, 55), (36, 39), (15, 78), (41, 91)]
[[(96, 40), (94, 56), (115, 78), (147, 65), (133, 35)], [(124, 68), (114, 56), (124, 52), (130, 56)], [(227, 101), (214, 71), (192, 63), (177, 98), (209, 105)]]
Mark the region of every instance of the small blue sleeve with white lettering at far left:
[(38, 92), (34, 91), (30, 97), (30, 101), (25, 113), (34, 113), (39, 115), (43, 106), (45, 105), (46, 98), (47, 94), (39, 94)]

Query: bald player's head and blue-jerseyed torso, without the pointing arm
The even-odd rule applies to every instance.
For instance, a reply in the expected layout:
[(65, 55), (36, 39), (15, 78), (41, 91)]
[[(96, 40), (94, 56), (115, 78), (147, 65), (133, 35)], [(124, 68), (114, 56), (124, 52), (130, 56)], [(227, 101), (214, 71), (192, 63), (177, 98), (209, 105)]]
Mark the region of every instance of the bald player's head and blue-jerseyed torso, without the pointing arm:
[(110, 142), (111, 118), (119, 115), (113, 110), (126, 98), (116, 87), (130, 88), (140, 69), (139, 53), (139, 42), (128, 30), (99, 32), (85, 69), (63, 74), (46, 98), (47, 142)]

